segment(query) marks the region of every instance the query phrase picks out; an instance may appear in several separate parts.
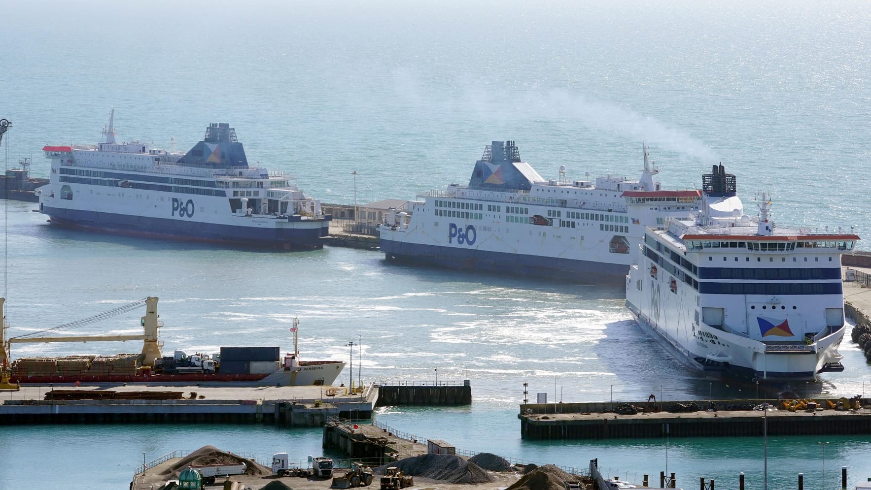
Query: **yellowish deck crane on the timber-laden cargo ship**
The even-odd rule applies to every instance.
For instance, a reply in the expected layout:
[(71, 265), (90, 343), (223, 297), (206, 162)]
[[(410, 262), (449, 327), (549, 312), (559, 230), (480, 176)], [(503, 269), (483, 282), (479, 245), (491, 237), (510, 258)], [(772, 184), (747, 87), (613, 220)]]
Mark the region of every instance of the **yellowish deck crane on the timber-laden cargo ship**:
[[(163, 342), (158, 340), (158, 328), (163, 326), (163, 322), (159, 321), (158, 316), (158, 299), (150, 297), (140, 299), (136, 303), (120, 306), (109, 312), (100, 313), (87, 319), (77, 320), (62, 326), (56, 326), (41, 332), (31, 332), (11, 339), (6, 339), (6, 314), (5, 314), (5, 298), (0, 298), (0, 366), (10, 365), (10, 346), (11, 344), (20, 343), (48, 343), (48, 342), (115, 342), (125, 340), (143, 340), (142, 366), (154, 366), (154, 359), (160, 359), (160, 347)], [(72, 335), (54, 335), (53, 332), (70, 330), (80, 326), (89, 325), (99, 320), (107, 319), (112, 316), (127, 312), (132, 308), (145, 304), (145, 316), (141, 317), (141, 325), (144, 329), (142, 335), (97, 335), (97, 336), (72, 336)]]

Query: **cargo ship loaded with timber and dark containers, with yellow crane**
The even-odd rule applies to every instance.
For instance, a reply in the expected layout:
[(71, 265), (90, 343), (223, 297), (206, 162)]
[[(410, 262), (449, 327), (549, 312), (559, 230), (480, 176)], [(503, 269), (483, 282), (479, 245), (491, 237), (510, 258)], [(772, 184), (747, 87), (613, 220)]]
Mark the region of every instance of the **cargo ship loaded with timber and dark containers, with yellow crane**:
[[(58, 332), (87, 325), (91, 320), (106, 319), (145, 305), (141, 317), (142, 335), (105, 335), (98, 337), (59, 336)], [(160, 352), (163, 342), (158, 329), (163, 326), (157, 313), (158, 298), (142, 299), (89, 319), (77, 320), (42, 332), (31, 332), (6, 339), (5, 299), (0, 298), (0, 366), (10, 368), (13, 383), (86, 384), (167, 382), (239, 382), (255, 386), (332, 385), (344, 368), (343, 361), (300, 360), (299, 321), (294, 319), (294, 351), (283, 356), (280, 347), (220, 347), (219, 354), (187, 355), (175, 351), (172, 356)], [(51, 335), (51, 336), (49, 336)], [(12, 360), (10, 346), (17, 343), (93, 342), (142, 340), (142, 352), (114, 356), (73, 355), (64, 357), (28, 357)]]

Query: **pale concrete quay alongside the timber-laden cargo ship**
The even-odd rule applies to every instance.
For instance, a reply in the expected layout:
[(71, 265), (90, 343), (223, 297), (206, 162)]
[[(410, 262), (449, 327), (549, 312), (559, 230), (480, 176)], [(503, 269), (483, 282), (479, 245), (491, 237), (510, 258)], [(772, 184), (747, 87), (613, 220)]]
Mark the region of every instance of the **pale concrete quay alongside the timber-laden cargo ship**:
[[(334, 386), (55, 386), (118, 393), (182, 392), (184, 399), (46, 400), (51, 386), (0, 392), (0, 425), (130, 423), (271, 423), (322, 426), (330, 417), (368, 419), (378, 386), (346, 393)], [(327, 396), (327, 391), (336, 393)]]

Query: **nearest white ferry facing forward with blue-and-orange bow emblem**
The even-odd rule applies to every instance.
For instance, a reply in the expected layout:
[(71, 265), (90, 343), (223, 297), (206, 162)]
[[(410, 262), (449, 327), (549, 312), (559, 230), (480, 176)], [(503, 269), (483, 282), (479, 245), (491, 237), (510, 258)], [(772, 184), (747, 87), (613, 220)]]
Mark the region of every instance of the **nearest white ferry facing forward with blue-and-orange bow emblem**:
[(842, 371), (841, 254), (852, 233), (776, 226), (770, 196), (759, 218), (718, 211), (737, 199), (722, 165), (703, 178), (692, 217), (647, 228), (626, 276), (638, 325), (686, 366), (757, 380), (807, 380)]

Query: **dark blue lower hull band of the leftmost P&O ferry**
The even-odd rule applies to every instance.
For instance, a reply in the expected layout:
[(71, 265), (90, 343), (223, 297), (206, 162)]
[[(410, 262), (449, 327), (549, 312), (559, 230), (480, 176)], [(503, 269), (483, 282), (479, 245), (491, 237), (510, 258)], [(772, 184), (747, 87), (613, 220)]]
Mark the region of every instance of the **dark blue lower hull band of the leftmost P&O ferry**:
[(214, 225), (196, 221), (126, 216), (111, 212), (78, 211), (43, 206), (51, 224), (95, 232), (147, 238), (237, 244), (270, 248), (320, 249), (329, 234), (327, 221), (319, 228), (256, 228)]

